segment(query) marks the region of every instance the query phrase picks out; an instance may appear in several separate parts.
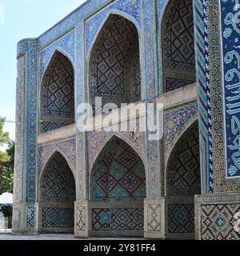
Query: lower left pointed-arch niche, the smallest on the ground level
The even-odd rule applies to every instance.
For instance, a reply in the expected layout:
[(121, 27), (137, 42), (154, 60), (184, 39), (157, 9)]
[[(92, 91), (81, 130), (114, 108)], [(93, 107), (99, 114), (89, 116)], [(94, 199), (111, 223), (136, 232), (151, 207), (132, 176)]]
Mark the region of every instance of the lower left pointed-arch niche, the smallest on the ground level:
[(39, 184), (42, 233), (74, 232), (76, 183), (66, 158), (56, 151), (42, 171)]

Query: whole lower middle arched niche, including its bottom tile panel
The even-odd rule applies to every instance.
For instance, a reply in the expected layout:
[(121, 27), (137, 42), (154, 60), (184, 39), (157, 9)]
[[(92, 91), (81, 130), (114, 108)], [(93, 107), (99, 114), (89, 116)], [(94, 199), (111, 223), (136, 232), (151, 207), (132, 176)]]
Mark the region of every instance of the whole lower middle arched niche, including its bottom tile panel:
[(113, 137), (90, 173), (92, 230), (107, 235), (142, 236), (146, 173), (131, 146)]

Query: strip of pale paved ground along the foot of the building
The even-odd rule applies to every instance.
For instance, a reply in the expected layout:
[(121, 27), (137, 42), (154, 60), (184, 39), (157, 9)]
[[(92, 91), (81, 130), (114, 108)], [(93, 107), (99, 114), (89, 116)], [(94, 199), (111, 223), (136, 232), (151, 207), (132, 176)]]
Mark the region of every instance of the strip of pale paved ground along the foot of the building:
[(144, 240), (144, 238), (74, 238), (73, 234), (12, 235), (0, 234), (0, 240)]

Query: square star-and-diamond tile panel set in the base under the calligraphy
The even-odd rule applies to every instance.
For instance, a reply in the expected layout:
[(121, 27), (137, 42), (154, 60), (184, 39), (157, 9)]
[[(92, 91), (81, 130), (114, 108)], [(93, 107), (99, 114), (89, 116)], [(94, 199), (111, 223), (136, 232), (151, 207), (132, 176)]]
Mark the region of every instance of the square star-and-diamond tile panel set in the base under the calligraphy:
[(202, 206), (202, 240), (239, 240), (240, 205)]

